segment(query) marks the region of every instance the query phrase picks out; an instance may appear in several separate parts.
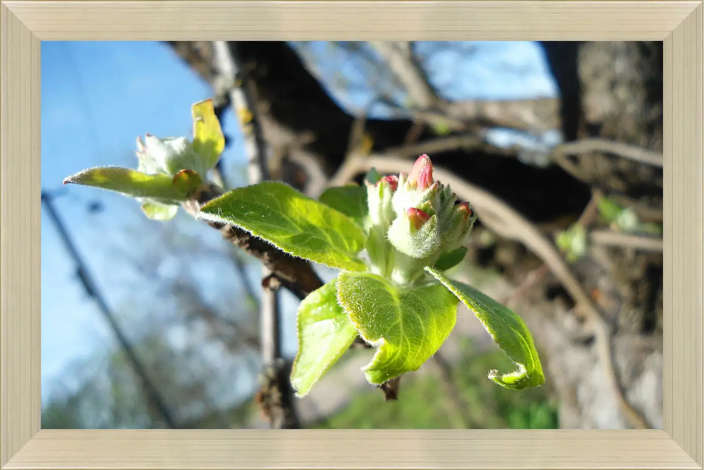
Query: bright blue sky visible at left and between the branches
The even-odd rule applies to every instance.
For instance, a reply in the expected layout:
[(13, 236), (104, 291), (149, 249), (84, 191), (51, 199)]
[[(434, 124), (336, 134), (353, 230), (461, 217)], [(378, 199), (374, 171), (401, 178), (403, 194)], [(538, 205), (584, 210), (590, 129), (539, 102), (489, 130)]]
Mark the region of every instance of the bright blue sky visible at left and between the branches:
[[(432, 44), (422, 44), (429, 51)], [(323, 77), (340, 75), (363, 79), (360, 69), (344, 53), (330, 54), (329, 45), (313, 44)], [(324, 59), (324, 61), (323, 61)], [(510, 99), (554, 96), (539, 48), (532, 43), (474, 43), (469, 56), (452, 51), (435, 53), (428, 62), (430, 77), (441, 93), (452, 99)], [(520, 73), (517, 73), (520, 72)], [(144, 133), (189, 136), (190, 106), (210, 97), (210, 89), (177, 58), (168, 46), (155, 42), (43, 42), (42, 43), (42, 187), (59, 190), (65, 176), (87, 167), (115, 164), (134, 166), (134, 139)], [(362, 107), (369, 93), (337, 95), (345, 105)], [(238, 141), (232, 116), (225, 132)], [(244, 149), (235, 143), (223, 155), (227, 167), (244, 163)], [(160, 223), (142, 216), (132, 200), (108, 192), (63, 187), (56, 209), (87, 260), (111, 308), (130, 318), (130, 306), (149, 296), (130, 256), (149, 253), (160, 243)], [(100, 202), (103, 211), (92, 214), (88, 204)], [(169, 228), (186, 230), (203, 244), (220, 247), (215, 230), (203, 229), (185, 217)], [(137, 241), (134, 233), (142, 234)], [(168, 277), (182, 261), (158, 261), (159, 275)], [(236, 282), (234, 273), (221, 275), (222, 263), (203, 262), (194, 277), (214, 282)], [(256, 276), (256, 269), (253, 275)], [(204, 289), (218, 302), (218, 290)], [(286, 301), (284, 328), (293, 333), (295, 302)], [(135, 308), (134, 312), (139, 309)], [(138, 322), (137, 322), (138, 323)], [(42, 214), (42, 396), (54, 391), (56, 379), (67, 379), (67, 367), (112, 344), (113, 337), (99, 311), (75, 279), (75, 266), (66, 255), (51, 222)], [(287, 335), (285, 350), (292, 354), (295, 338)]]

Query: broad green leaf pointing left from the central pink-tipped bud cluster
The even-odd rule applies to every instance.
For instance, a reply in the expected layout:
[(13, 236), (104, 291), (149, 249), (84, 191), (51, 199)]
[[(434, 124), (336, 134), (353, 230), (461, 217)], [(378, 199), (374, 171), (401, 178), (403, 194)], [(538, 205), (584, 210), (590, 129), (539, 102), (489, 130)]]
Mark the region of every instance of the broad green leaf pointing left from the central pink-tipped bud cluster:
[(275, 181), (237, 188), (208, 202), (199, 218), (233, 223), (277, 248), (332, 268), (365, 270), (365, 235), (350, 218)]

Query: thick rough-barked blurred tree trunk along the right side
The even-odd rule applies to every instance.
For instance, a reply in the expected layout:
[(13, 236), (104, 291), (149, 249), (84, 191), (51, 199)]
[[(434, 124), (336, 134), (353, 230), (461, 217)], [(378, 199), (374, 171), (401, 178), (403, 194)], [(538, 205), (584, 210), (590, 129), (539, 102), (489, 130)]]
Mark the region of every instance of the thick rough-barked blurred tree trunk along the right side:
[[(567, 141), (601, 137), (662, 150), (662, 43), (541, 45), (560, 88)], [(662, 214), (662, 168), (601, 152), (572, 157), (562, 167), (642, 213)], [(593, 247), (577, 270), (612, 325), (612, 354), (624, 397), (650, 427), (661, 428), (662, 254)], [(545, 316), (537, 331), (560, 394), (561, 426), (629, 427), (603, 386), (591, 337), (575, 337), (574, 318), (567, 312)]]

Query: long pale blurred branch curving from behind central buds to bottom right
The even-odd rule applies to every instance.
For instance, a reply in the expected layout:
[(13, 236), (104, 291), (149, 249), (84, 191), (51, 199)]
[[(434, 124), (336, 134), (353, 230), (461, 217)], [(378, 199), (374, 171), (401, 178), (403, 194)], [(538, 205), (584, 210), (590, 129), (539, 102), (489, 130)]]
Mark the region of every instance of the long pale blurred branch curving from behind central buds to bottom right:
[[(372, 167), (381, 173), (397, 173), (405, 168), (408, 162), (405, 159), (369, 156), (353, 156), (346, 160), (338, 174), (334, 176), (334, 184), (340, 185), (349, 181), (354, 175), (369, 171)], [(624, 398), (622, 386), (617, 376), (613, 363), (611, 351), (611, 327), (602, 318), (601, 313), (591, 302), (589, 296), (584, 292), (577, 278), (562, 259), (560, 253), (555, 249), (553, 243), (546, 239), (538, 228), (530, 221), (527, 221), (521, 214), (499, 200), (491, 193), (482, 188), (469, 183), (462, 178), (443, 169), (436, 168), (433, 171), (435, 178), (451, 185), (455, 193), (461, 200), (471, 201), (477, 209), (477, 215), (482, 224), (494, 233), (509, 240), (517, 240), (530, 249), (536, 256), (548, 265), (553, 274), (565, 286), (572, 299), (586, 316), (596, 337), (596, 348), (601, 363), (612, 389), (612, 393), (620, 403), (624, 416), (632, 426), (638, 429), (648, 429), (648, 424)]]

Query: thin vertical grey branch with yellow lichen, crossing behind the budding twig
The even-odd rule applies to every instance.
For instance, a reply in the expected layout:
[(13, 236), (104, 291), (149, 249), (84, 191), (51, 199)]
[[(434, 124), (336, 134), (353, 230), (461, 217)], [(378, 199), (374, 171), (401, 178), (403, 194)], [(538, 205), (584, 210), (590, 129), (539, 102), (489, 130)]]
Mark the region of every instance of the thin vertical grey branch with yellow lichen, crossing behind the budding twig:
[[(244, 134), (244, 144), (249, 165), (249, 182), (251, 184), (268, 180), (269, 147), (264, 138), (264, 132), (256, 110), (246, 74), (243, 72), (237, 54), (237, 43), (215, 41), (215, 64), (220, 69), (219, 92), (227, 90), (230, 105), (235, 115), (239, 117)], [(265, 384), (260, 389), (260, 398), (265, 414), (272, 428), (299, 428), (298, 417), (294, 410), (293, 390), (288, 374), (284, 372), (281, 358), (280, 312), (278, 287), (281, 285), (268, 266), (263, 267), (263, 299), (260, 304), (261, 320), (261, 351), (264, 367)]]

